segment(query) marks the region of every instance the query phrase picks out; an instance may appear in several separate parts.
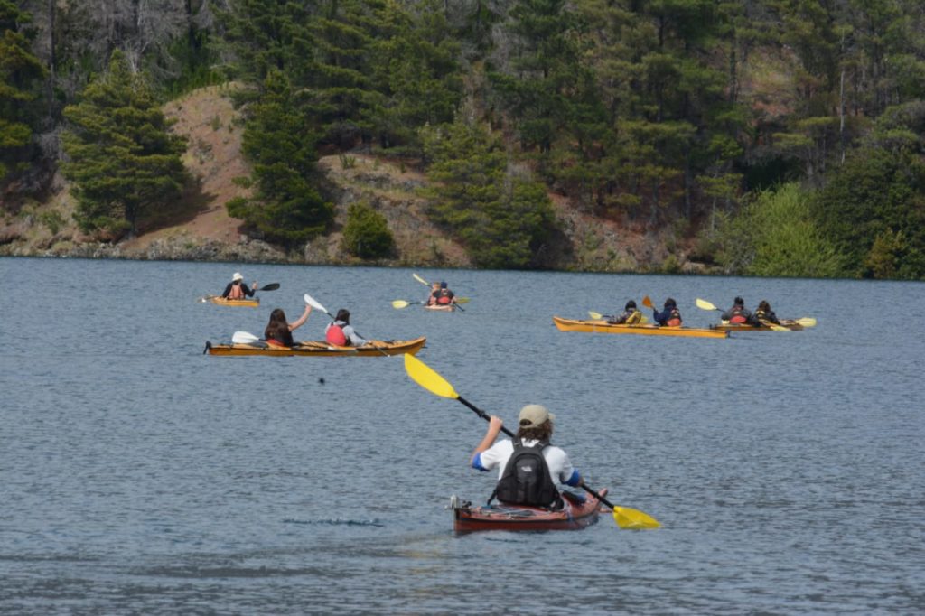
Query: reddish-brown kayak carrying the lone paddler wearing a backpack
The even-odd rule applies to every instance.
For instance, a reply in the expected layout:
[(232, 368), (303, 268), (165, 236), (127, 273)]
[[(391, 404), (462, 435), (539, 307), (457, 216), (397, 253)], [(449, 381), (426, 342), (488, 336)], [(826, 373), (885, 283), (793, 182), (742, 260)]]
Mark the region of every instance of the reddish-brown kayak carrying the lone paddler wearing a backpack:
[[(607, 488), (600, 490), (600, 495), (606, 496)], [(598, 522), (600, 502), (595, 497), (562, 492), (562, 500), (565, 506), (561, 510), (549, 511), (525, 505), (473, 507), (472, 503), (461, 502), (454, 496), (450, 499), (453, 530), (458, 533), (483, 530), (580, 530)]]

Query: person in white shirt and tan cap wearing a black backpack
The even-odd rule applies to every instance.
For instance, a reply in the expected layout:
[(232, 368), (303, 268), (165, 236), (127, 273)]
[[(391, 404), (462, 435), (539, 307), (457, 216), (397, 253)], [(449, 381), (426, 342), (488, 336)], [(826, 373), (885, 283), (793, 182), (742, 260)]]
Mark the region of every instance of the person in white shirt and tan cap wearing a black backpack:
[(521, 409), (517, 434), (512, 439), (498, 437), (504, 422), (492, 415), (485, 437), (475, 447), (471, 464), (479, 471), (499, 469), (498, 485), (488, 503), (497, 497), (509, 505), (529, 505), (549, 510), (562, 508), (556, 483), (579, 487), (584, 481), (568, 454), (549, 444), (555, 415), (540, 404)]

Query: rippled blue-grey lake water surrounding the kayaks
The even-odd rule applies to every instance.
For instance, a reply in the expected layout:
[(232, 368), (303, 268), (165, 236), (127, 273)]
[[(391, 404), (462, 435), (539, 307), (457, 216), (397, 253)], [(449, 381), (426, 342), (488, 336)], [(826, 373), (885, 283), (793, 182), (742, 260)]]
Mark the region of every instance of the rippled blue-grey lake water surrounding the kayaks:
[[(281, 289), (196, 302), (237, 270)], [(925, 611), (925, 285), (414, 271), (472, 302), (393, 309), (425, 295), (408, 269), (0, 259), (0, 611)], [(418, 357), (510, 423), (546, 404), (589, 485), (663, 527), (454, 535), (450, 495), (493, 485), (467, 463), (486, 424), (401, 358), (203, 355), (304, 292), (364, 336), (425, 335)], [(552, 326), (645, 294), (690, 326), (735, 295), (819, 325)]]

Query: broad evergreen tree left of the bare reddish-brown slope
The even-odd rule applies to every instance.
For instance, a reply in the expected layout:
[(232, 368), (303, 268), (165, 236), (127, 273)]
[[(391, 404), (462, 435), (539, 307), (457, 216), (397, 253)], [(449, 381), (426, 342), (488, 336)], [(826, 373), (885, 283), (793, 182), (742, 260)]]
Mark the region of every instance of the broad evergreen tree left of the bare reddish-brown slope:
[(118, 239), (179, 200), (187, 179), (180, 160), (186, 141), (169, 132), (151, 87), (131, 72), (121, 52), (113, 52), (108, 70), (65, 117), (69, 162), (62, 170), (75, 184), (81, 229)]

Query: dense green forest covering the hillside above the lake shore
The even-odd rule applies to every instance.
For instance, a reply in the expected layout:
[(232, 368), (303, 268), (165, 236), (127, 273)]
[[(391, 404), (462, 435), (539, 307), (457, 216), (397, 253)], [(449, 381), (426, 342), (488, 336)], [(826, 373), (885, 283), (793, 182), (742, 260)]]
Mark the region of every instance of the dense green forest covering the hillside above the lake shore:
[[(280, 246), (363, 151), (478, 266), (536, 266), (555, 194), (717, 271), (925, 278), (921, 0), (0, 0), (0, 31), (4, 216), (60, 172), (83, 232), (143, 230), (189, 180), (161, 105), (235, 81), (228, 213)], [(344, 233), (393, 250), (364, 203)]]

